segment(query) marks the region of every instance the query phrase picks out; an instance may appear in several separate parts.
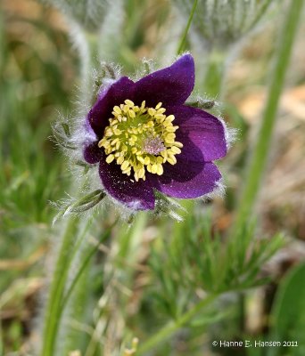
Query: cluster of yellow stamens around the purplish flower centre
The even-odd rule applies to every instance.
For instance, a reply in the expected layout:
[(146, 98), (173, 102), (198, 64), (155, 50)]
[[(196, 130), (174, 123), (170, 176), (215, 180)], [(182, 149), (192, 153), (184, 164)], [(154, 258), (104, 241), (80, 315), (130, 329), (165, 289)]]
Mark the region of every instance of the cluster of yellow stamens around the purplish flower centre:
[(183, 144), (176, 142), (174, 115), (164, 114), (166, 109), (159, 102), (155, 108), (141, 107), (133, 101), (115, 106), (110, 125), (105, 128), (103, 139), (98, 147), (104, 148), (106, 162), (116, 160), (123, 174), (131, 174), (135, 180), (145, 180), (145, 170), (152, 174), (163, 174), (163, 164), (177, 163), (175, 155), (181, 153)]

